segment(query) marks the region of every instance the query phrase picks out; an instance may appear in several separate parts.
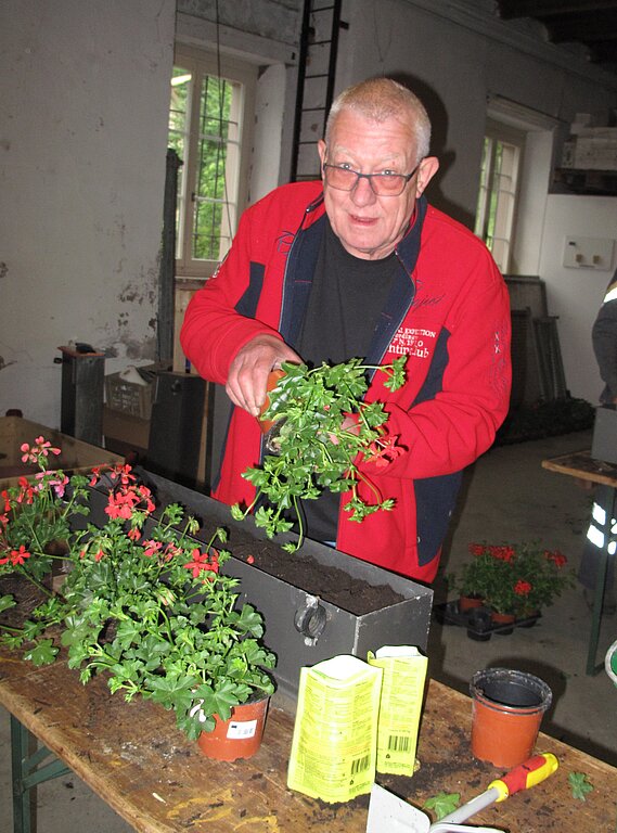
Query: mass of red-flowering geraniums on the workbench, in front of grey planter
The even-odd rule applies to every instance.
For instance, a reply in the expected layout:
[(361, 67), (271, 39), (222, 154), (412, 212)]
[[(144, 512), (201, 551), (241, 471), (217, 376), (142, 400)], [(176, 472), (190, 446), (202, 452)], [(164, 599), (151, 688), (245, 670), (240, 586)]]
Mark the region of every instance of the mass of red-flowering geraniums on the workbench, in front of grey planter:
[[(64, 645), (83, 683), (105, 672), (113, 693), (173, 709), (192, 740), (214, 728), (215, 714), (226, 720), (233, 706), (273, 692), (262, 618), (237, 604), (239, 579), (222, 569), (230, 554), (214, 548), (223, 529), (203, 544), (179, 504), (156, 516), (150, 488), (128, 465), (69, 479), (50, 471), (59, 450), (42, 437), (23, 452), (41, 472), (1, 494), (0, 578), (18, 576), (43, 598), (18, 627), (0, 616), (4, 644), (36, 665)], [(106, 494), (100, 525), (88, 517), (94, 488)], [(65, 572), (56, 593), (46, 577), (57, 560)], [(0, 594), (0, 615), (14, 606)]]

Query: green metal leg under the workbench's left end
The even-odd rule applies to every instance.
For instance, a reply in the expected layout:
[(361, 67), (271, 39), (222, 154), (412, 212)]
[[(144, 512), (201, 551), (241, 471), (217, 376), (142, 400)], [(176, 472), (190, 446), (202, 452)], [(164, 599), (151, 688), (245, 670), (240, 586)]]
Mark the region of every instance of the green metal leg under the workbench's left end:
[(59, 778), (70, 769), (59, 758), (44, 762), (51, 753), (39, 746), (30, 755), (33, 735), (16, 717), (11, 715), (11, 766), (13, 776), (13, 833), (35, 833), (31, 802), (37, 784)]

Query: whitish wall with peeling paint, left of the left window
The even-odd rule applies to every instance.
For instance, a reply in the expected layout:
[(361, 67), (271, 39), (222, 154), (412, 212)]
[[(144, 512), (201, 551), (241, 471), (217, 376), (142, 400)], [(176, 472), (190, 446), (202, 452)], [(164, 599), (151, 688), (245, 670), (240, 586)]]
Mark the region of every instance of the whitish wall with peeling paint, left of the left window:
[(59, 426), (72, 339), (155, 358), (175, 12), (1, 4), (0, 415)]

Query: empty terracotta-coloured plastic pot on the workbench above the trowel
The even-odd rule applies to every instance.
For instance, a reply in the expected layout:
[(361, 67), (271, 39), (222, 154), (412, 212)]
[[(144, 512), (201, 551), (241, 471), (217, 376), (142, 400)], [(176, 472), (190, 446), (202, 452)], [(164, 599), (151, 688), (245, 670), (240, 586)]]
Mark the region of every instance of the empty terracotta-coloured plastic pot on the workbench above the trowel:
[(525, 671), (487, 668), (471, 681), (472, 752), (496, 767), (516, 767), (530, 757), (552, 692)]

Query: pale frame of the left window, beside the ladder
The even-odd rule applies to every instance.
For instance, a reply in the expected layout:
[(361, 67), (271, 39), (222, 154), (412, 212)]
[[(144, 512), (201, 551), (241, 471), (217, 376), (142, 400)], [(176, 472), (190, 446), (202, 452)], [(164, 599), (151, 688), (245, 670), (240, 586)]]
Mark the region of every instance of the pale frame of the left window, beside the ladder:
[[(227, 210), (222, 215), (222, 234), (231, 240), (237, 229), (242, 212), (248, 204), (250, 151), (253, 142), (253, 121), (255, 114), (255, 91), (257, 84), (257, 67), (228, 55), (215, 55), (201, 49), (177, 44), (173, 55), (173, 68), (185, 68), (192, 74), (191, 94), (188, 103), (188, 153), (182, 159), (183, 169), (179, 174), (177, 195), (177, 257), (176, 274), (180, 278), (207, 279), (224, 257), (226, 251), (218, 259), (196, 259), (192, 254), (192, 235), (196, 201), (191, 194), (196, 190), (198, 171), (198, 126), (202, 81), (205, 76), (220, 77), (232, 85), (240, 85), (237, 97), (234, 97), (234, 116), (239, 125), (237, 161), (230, 171), (226, 165), (226, 179), (233, 178), (234, 193), (228, 193), (227, 200), (232, 206), (231, 217)], [(168, 114), (170, 113), (170, 102)], [(229, 161), (229, 157), (228, 157)], [(227, 228), (226, 228), (227, 223)], [(230, 228), (231, 223), (231, 228)], [(222, 236), (221, 234), (221, 236)], [(229, 248), (229, 246), (227, 247)], [(179, 256), (178, 256), (179, 254)]]

